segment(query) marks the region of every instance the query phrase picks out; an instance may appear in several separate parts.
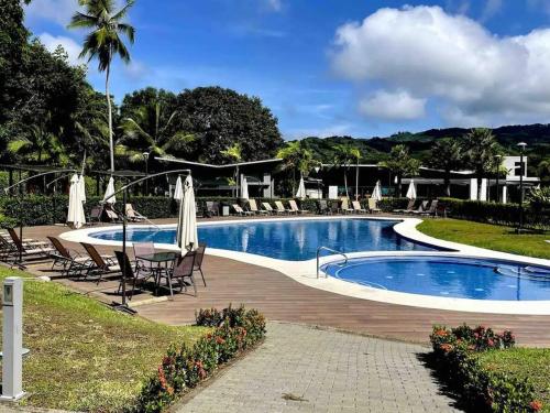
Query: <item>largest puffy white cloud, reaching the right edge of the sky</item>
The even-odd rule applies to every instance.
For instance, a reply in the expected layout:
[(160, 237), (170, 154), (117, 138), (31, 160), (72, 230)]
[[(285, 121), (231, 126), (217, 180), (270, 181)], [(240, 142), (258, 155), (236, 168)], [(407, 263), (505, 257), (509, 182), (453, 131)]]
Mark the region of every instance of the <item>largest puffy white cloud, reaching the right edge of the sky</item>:
[(439, 7), (381, 9), (338, 29), (331, 59), (362, 87), (436, 101), (450, 123), (550, 118), (550, 30), (501, 37)]

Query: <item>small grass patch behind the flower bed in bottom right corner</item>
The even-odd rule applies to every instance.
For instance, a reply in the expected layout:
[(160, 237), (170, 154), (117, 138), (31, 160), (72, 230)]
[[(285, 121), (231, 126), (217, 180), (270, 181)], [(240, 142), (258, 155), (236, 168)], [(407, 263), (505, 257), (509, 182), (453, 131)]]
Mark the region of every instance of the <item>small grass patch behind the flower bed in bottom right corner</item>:
[(537, 400), (543, 403), (543, 412), (550, 412), (550, 349), (512, 348), (485, 351), (479, 355), (482, 365), (518, 378), (528, 378), (535, 385)]

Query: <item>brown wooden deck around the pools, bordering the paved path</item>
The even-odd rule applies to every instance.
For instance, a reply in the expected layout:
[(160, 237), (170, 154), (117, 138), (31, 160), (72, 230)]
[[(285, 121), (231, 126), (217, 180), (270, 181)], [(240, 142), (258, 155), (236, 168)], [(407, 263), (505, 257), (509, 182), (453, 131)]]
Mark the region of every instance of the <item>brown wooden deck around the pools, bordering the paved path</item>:
[[(166, 221), (170, 220), (163, 220)], [(66, 230), (66, 227), (59, 226), (25, 228), (24, 237), (42, 239)], [(78, 248), (75, 244), (69, 247)], [(112, 253), (112, 249), (103, 248), (102, 252)], [(34, 274), (50, 274), (45, 269), (44, 265), (30, 267)], [(142, 303), (136, 306), (139, 314), (155, 322), (178, 325), (193, 323), (195, 312), (201, 307), (242, 303), (258, 308), (273, 320), (333, 327), (400, 340), (427, 343), (433, 324), (454, 326), (465, 322), (498, 330), (509, 328), (516, 334), (518, 344), (524, 346), (550, 346), (550, 316), (448, 312), (353, 298), (305, 286), (277, 271), (217, 257), (206, 257), (204, 270), (208, 287), (199, 282), (198, 297), (177, 294), (173, 301), (144, 304), (152, 295), (142, 293), (132, 300), (136, 304)], [(116, 280), (99, 285), (69, 280), (59, 282), (103, 302), (120, 301), (120, 296), (113, 294), (118, 286)]]

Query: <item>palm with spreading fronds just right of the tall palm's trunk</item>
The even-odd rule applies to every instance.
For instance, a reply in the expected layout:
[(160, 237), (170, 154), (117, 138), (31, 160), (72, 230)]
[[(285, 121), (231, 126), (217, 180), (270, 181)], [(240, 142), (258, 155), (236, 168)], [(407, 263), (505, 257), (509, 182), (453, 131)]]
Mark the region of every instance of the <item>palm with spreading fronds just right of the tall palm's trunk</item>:
[(130, 162), (141, 162), (144, 152), (172, 157), (187, 151), (195, 135), (170, 131), (176, 116), (177, 111), (165, 113), (160, 99), (139, 107), (131, 117), (122, 119), (120, 128), (123, 134), (117, 143), (116, 153), (127, 156)]

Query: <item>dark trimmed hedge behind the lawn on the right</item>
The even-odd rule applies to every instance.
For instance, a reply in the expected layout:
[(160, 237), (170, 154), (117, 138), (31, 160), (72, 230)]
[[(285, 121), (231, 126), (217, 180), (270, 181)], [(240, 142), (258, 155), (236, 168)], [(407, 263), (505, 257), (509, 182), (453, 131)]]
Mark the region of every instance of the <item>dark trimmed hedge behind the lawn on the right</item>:
[[(455, 198), (441, 198), (440, 202), (449, 217), (509, 227), (515, 227), (519, 222), (520, 208), (518, 204), (497, 204)], [(524, 227), (550, 229), (550, 209), (534, 209), (529, 204), (526, 204), (524, 206)]]

